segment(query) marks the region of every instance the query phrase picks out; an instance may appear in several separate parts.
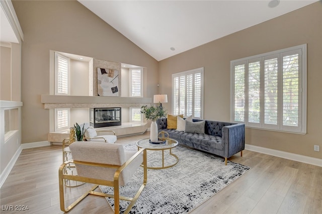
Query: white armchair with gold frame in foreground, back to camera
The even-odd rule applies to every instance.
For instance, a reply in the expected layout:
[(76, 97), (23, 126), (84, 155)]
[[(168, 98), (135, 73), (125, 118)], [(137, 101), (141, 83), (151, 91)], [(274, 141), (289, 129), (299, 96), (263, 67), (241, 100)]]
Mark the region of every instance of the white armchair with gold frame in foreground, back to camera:
[[(120, 199), (131, 201), (124, 213), (129, 213), (135, 201), (142, 192), (147, 180), (146, 150), (126, 151), (121, 144), (107, 144), (102, 142), (74, 142), (70, 146), (77, 175), (68, 175), (64, 168), (69, 162), (63, 163), (59, 168), (59, 196), (60, 209), (69, 211), (87, 195), (94, 194), (104, 197), (114, 197), (115, 213), (120, 212)], [(126, 185), (134, 172), (143, 166), (143, 182), (133, 197), (120, 195), (119, 186)], [(66, 207), (65, 188), (63, 180), (76, 180), (95, 184), (89, 191)], [(105, 194), (94, 191), (98, 185), (114, 187), (114, 194)], [(70, 200), (68, 200), (70, 202)]]

